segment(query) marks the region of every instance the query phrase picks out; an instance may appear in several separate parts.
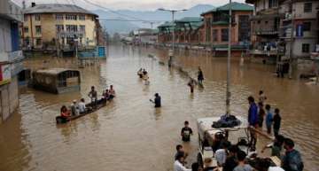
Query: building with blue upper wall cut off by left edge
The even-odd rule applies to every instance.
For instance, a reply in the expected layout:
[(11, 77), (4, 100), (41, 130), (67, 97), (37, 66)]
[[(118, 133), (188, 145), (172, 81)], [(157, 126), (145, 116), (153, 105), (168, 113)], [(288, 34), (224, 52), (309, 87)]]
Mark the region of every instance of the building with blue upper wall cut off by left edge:
[(19, 5), (0, 1), (0, 124), (19, 105), (18, 74), (23, 69), (19, 24), (23, 14)]

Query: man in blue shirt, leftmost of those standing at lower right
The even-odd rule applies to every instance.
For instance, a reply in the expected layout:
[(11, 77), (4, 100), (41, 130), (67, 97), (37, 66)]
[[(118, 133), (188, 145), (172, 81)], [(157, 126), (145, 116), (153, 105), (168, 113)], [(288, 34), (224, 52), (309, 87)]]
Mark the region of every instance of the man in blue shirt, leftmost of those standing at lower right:
[(256, 149), (256, 144), (257, 144), (257, 135), (254, 131), (253, 128), (258, 127), (258, 107), (256, 103), (254, 102), (253, 97), (248, 97), (248, 103), (249, 103), (249, 110), (248, 110), (248, 123), (249, 123), (249, 128), (250, 133), (251, 133), (251, 151), (255, 151)]

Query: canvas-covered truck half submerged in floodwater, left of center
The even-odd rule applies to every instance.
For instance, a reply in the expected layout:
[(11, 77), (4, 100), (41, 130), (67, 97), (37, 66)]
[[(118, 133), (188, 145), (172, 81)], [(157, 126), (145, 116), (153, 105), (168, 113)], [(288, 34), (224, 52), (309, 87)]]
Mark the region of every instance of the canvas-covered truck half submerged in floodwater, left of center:
[(41, 69), (32, 73), (31, 86), (51, 93), (79, 91), (80, 71), (66, 68)]

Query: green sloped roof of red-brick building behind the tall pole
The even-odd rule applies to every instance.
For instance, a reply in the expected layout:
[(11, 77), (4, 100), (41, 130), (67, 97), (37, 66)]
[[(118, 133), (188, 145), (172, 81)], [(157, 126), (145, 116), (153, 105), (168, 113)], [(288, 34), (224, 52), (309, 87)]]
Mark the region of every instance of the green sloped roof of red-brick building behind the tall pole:
[(244, 4), (244, 3), (237, 3), (233, 2), (230, 4), (224, 4), (220, 7), (214, 8), (213, 10), (210, 10), (208, 12), (204, 12), (201, 15), (205, 15), (207, 13), (211, 12), (223, 12), (223, 11), (229, 11), (231, 6), (232, 11), (237, 11), (237, 12), (253, 12), (253, 6), (249, 4)]

